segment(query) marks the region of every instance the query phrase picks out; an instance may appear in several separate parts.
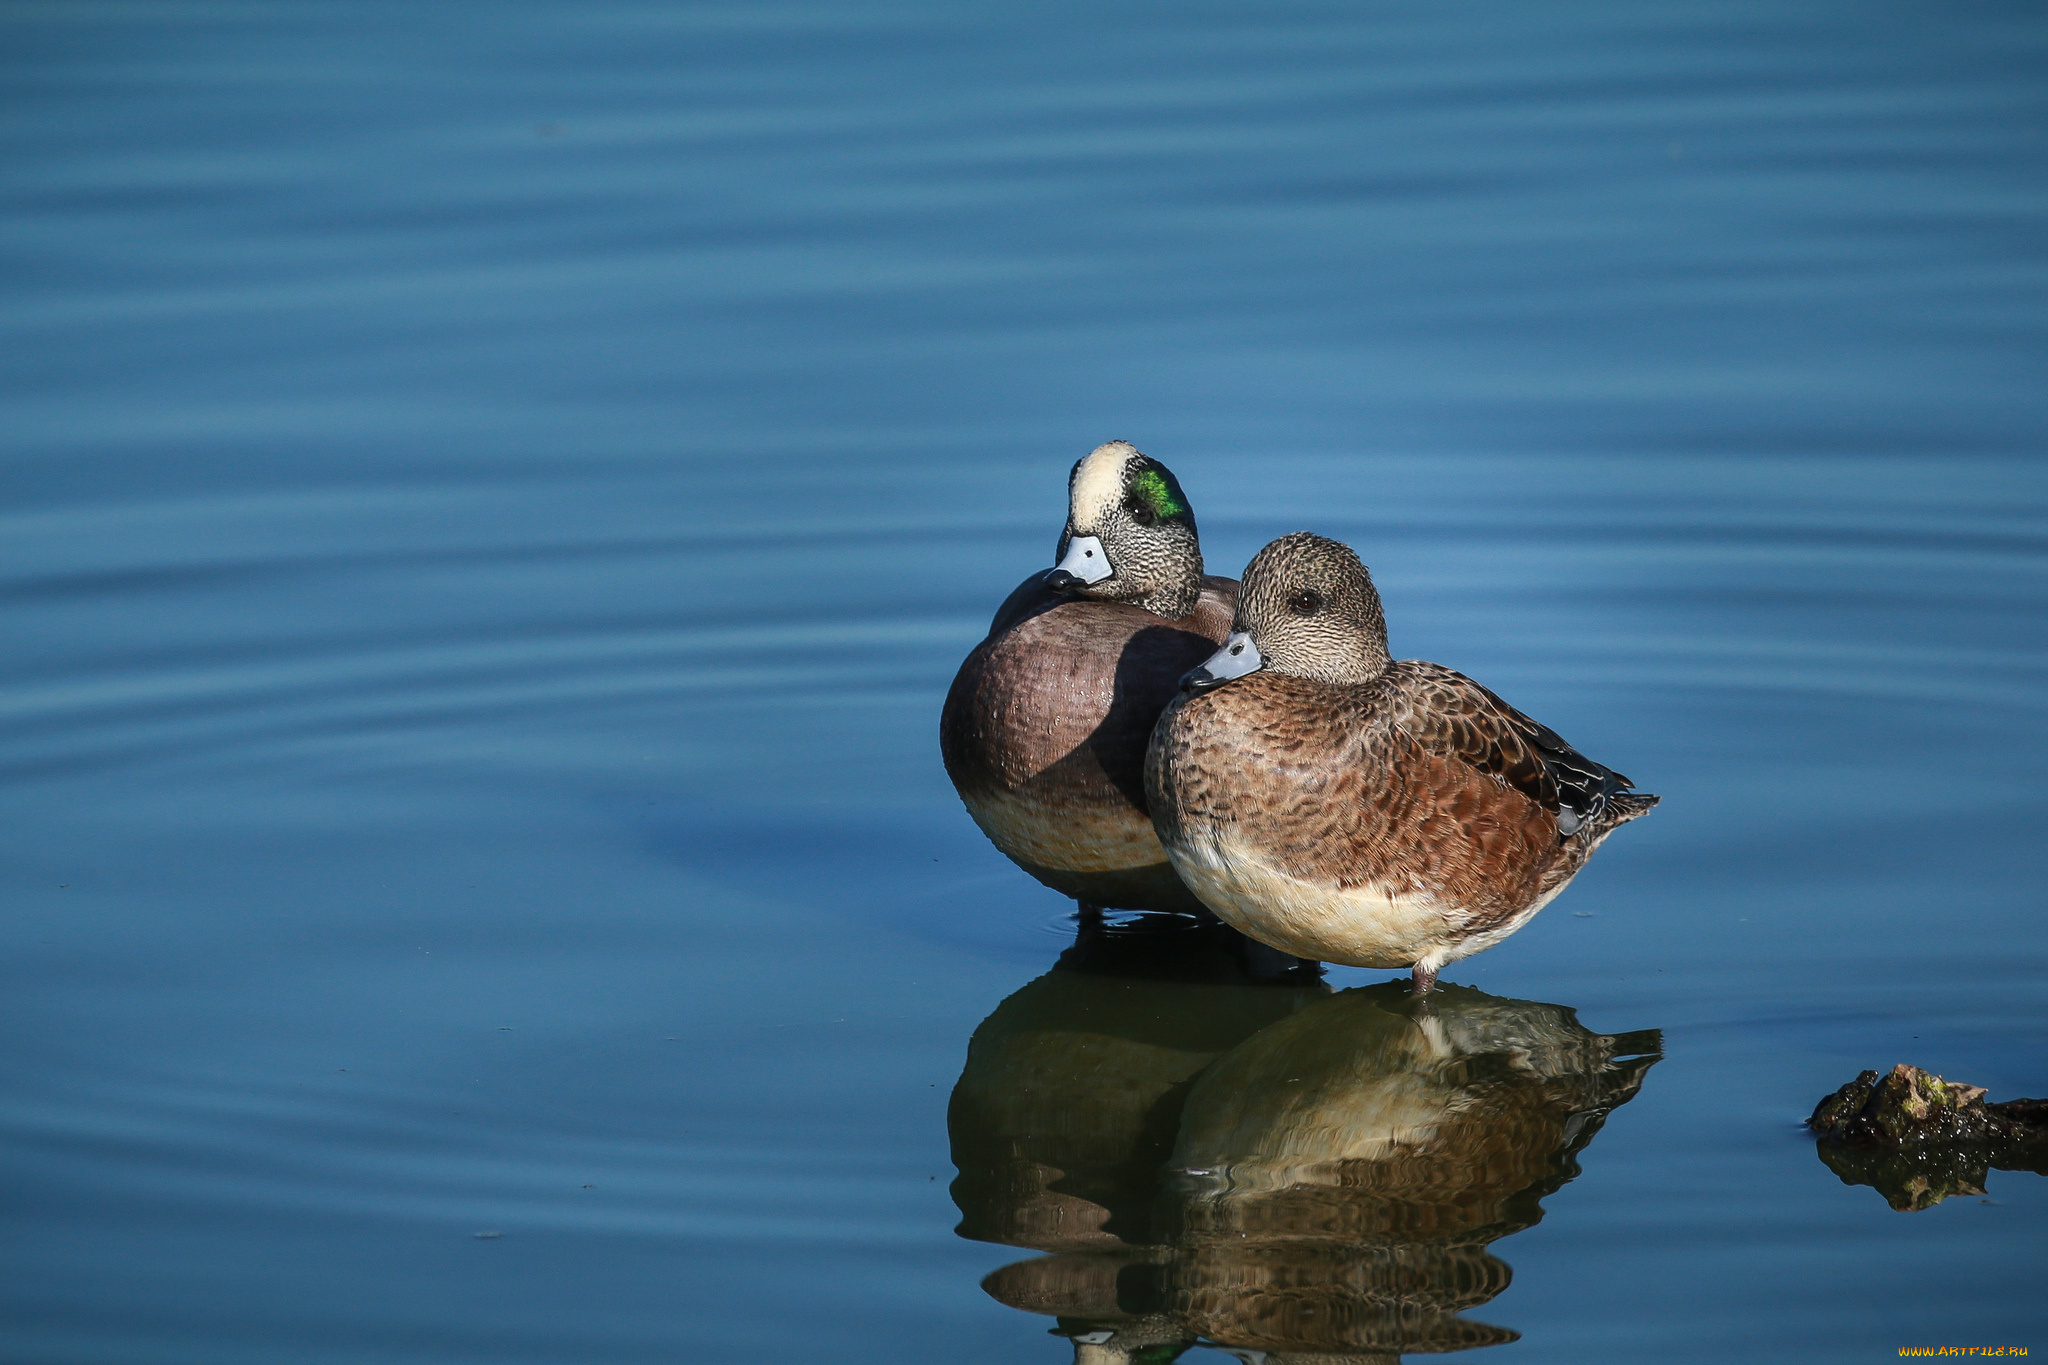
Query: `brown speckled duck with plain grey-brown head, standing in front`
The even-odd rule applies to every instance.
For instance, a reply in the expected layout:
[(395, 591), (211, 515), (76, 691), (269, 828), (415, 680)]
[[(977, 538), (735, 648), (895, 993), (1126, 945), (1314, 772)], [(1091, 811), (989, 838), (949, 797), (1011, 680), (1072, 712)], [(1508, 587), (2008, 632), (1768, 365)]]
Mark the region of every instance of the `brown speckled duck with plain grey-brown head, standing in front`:
[(1147, 804), (1182, 882), (1300, 958), (1438, 972), (1548, 905), (1657, 804), (1470, 677), (1395, 661), (1358, 555), (1296, 532), (1159, 714)]

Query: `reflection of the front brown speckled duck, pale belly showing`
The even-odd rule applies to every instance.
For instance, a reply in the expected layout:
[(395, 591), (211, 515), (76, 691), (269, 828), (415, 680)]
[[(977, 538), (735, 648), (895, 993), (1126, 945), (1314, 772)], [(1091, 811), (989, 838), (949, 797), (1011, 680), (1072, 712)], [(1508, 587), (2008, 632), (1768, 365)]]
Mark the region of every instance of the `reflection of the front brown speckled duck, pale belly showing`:
[(1513, 1340), (1456, 1316), (1507, 1287), (1487, 1246), (1542, 1218), (1657, 1048), (1462, 986), (1417, 1007), (1401, 982), (1262, 1029), (1182, 1111), (1169, 1312), (1284, 1357)]

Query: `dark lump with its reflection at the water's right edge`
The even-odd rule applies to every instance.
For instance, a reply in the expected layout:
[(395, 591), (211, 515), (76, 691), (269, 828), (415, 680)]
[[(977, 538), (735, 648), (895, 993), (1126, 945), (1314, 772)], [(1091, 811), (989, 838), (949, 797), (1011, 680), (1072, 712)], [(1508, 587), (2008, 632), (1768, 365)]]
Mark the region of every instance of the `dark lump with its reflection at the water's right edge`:
[(1866, 1070), (1806, 1119), (1845, 1185), (1872, 1185), (1901, 1212), (1985, 1193), (1993, 1171), (2048, 1175), (2048, 1099), (1985, 1103), (1985, 1089), (1905, 1062)]

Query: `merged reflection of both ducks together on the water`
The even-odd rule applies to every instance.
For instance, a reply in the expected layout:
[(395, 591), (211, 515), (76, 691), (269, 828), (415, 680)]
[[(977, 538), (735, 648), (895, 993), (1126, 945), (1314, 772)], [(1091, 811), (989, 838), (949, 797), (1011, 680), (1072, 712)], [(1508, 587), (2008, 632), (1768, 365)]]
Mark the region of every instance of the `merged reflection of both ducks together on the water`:
[[(1188, 966), (1241, 960), (1204, 933)], [(1059, 1318), (1085, 1365), (1196, 1340), (1266, 1365), (1516, 1340), (1458, 1314), (1507, 1287), (1489, 1244), (1579, 1173), (1653, 1029), (1464, 986), (1329, 995), (1292, 960), (1169, 978), (1102, 948), (1083, 933), (1010, 997), (954, 1091), (961, 1234), (1055, 1252), (989, 1275), (993, 1297)]]

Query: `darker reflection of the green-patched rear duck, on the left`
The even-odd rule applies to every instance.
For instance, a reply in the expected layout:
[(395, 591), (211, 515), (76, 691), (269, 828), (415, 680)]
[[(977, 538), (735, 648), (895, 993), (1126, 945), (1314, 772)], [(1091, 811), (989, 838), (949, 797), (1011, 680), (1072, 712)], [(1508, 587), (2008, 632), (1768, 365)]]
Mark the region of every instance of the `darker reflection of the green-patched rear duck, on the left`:
[(1083, 923), (975, 1029), (952, 1091), (958, 1234), (1057, 1252), (983, 1287), (1059, 1318), (1090, 1365), (1186, 1351), (1184, 1324), (1153, 1312), (1155, 1193), (1182, 1101), (1221, 1054), (1327, 995), (1317, 964), (1214, 921)]

